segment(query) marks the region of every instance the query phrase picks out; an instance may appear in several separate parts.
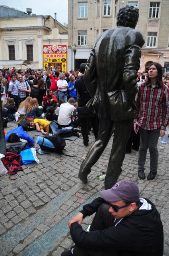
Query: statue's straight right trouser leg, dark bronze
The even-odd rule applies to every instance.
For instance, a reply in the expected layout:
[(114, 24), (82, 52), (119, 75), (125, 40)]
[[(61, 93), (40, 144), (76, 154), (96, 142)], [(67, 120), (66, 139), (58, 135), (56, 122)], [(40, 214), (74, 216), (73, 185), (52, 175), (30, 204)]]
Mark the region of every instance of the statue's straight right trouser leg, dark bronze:
[(110, 189), (117, 182), (126, 154), (126, 144), (133, 126), (133, 119), (115, 121), (115, 136), (105, 177), (105, 189)]

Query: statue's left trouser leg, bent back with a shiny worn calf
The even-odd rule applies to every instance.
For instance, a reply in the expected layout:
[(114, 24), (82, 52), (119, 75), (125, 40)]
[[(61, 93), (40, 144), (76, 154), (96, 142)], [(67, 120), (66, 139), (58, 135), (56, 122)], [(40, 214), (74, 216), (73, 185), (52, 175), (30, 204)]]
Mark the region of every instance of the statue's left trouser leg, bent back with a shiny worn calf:
[(107, 146), (112, 135), (113, 123), (110, 118), (100, 119), (98, 137), (80, 167), (79, 173), (82, 173), (85, 177), (91, 172), (91, 167), (97, 162)]

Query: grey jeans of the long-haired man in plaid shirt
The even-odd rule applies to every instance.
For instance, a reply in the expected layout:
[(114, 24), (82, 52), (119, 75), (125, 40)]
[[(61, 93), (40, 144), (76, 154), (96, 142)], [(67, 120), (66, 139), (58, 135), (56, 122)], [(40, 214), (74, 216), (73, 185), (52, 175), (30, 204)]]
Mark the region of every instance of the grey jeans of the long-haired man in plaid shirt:
[(138, 150), (138, 170), (144, 171), (146, 162), (147, 149), (150, 151), (150, 171), (157, 172), (158, 167), (158, 149), (157, 143), (159, 139), (160, 128), (155, 130), (139, 129), (140, 147)]

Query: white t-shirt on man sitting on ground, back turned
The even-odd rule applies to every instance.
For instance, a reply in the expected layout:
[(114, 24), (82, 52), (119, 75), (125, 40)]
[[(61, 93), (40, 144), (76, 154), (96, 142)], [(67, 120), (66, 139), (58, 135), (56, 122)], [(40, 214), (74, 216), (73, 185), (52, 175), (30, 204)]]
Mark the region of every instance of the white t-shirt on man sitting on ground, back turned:
[(58, 116), (58, 123), (60, 125), (69, 125), (71, 123), (71, 114), (74, 109), (76, 108), (68, 102), (61, 104)]

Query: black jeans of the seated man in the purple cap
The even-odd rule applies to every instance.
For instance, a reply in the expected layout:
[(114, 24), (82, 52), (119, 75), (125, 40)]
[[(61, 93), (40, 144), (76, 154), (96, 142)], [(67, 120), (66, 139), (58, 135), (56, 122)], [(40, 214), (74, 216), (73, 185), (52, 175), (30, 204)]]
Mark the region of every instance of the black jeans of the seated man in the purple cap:
[[(93, 218), (93, 221), (90, 226), (90, 231), (103, 230), (114, 225), (115, 218), (108, 211), (109, 205), (103, 203), (97, 209), (97, 212)], [(115, 252), (112, 248), (83, 248), (80, 246), (75, 246), (73, 251), (74, 256), (114, 256)]]

